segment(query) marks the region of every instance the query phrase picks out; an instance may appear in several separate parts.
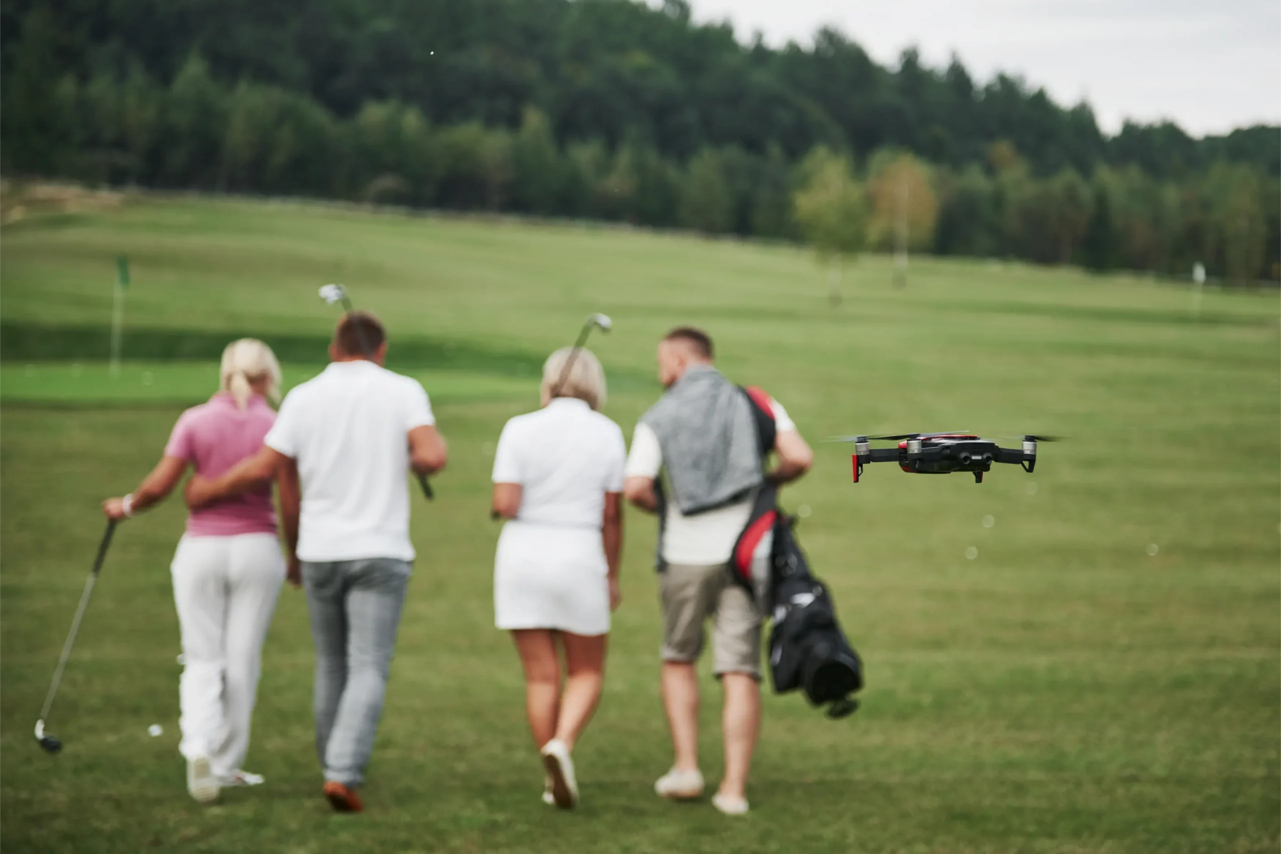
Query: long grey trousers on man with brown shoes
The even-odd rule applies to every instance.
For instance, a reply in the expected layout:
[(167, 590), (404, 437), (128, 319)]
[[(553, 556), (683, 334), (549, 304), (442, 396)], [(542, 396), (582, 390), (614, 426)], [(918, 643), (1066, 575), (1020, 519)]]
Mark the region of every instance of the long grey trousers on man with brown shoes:
[(365, 780), (411, 568), (395, 558), (302, 563), (316, 648), (316, 753), (325, 780), (352, 787)]

